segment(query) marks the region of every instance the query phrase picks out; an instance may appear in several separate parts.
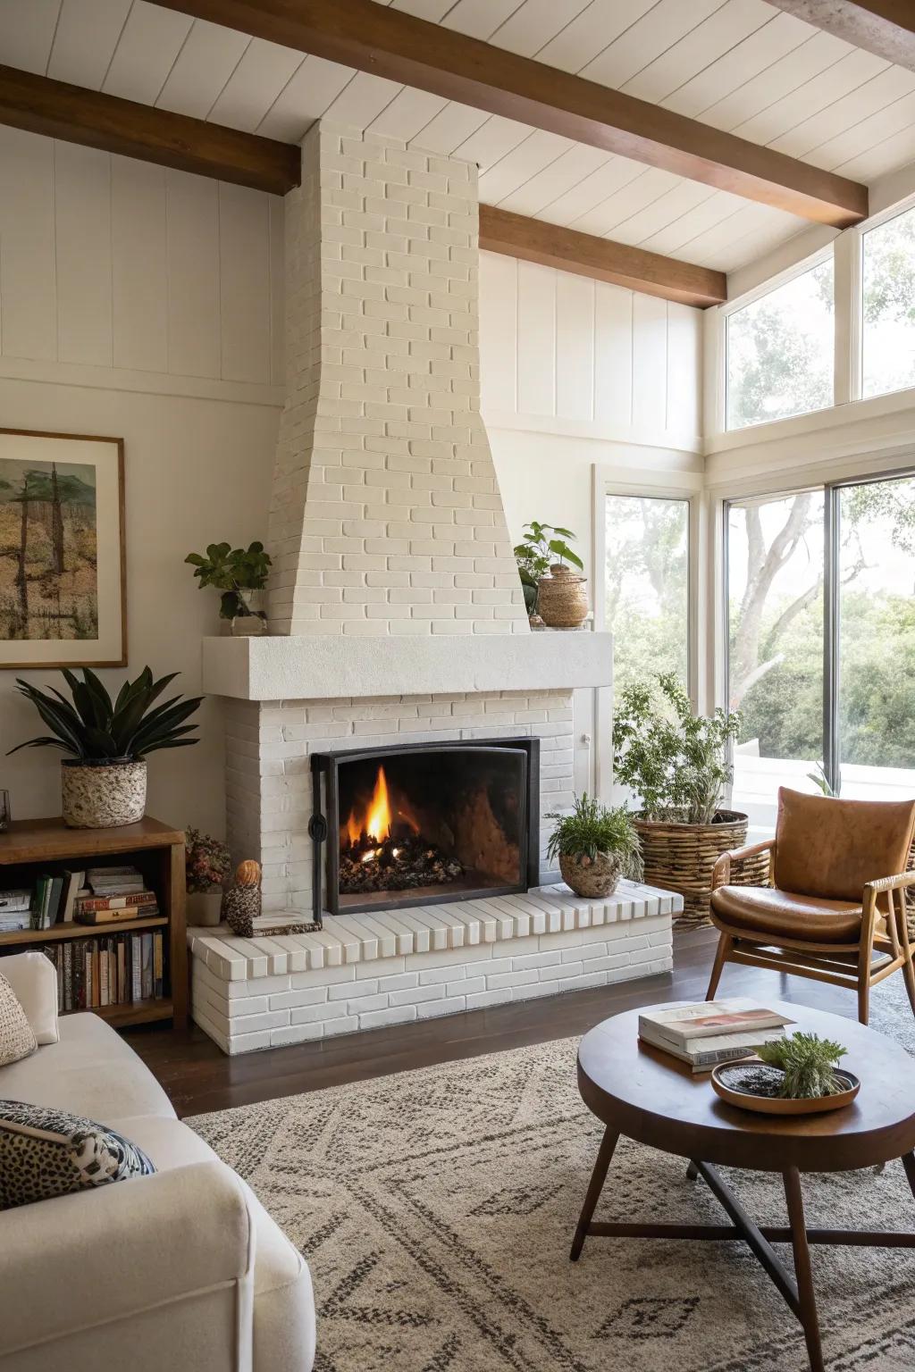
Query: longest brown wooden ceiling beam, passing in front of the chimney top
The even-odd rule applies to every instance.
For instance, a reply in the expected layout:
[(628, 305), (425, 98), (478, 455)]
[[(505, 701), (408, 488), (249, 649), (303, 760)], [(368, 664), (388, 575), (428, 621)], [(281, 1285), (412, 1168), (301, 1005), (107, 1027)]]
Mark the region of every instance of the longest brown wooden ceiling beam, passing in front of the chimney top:
[(156, 3), (807, 220), (846, 228), (867, 217), (856, 181), (375, 0)]

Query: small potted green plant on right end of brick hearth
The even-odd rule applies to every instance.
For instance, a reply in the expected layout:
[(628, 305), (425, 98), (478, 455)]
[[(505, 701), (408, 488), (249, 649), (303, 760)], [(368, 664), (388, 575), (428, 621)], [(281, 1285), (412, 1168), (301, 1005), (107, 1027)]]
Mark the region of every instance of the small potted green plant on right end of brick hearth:
[(593, 796), (576, 796), (571, 815), (550, 814), (553, 833), (546, 855), (560, 859), (562, 881), (576, 896), (612, 896), (620, 877), (642, 875), (639, 837), (624, 805), (602, 805)]

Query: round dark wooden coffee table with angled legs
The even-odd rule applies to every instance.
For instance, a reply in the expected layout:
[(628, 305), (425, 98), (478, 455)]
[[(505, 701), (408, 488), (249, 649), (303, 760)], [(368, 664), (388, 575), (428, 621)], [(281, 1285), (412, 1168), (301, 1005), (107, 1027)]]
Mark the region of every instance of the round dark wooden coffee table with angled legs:
[[(819, 1115), (752, 1114), (720, 1100), (708, 1074), (693, 1076), (638, 1039), (638, 1010), (597, 1025), (582, 1040), (579, 1091), (606, 1125), (572, 1240), (572, 1261), (584, 1239), (745, 1239), (800, 1320), (813, 1372), (823, 1372), (809, 1244), (915, 1249), (915, 1232), (808, 1229), (801, 1198), (803, 1172), (852, 1172), (901, 1159), (915, 1196), (915, 1061), (882, 1034), (822, 1010), (770, 1002), (796, 1021), (797, 1029), (838, 1039), (848, 1048), (842, 1066), (861, 1078), (857, 1099), (844, 1110)], [(789, 1033), (792, 1029), (789, 1028)], [(604, 1190), (620, 1135), (663, 1152), (689, 1158), (687, 1174), (702, 1177), (730, 1224), (617, 1224), (591, 1217)], [(756, 1172), (781, 1172), (787, 1227), (757, 1225), (726, 1185), (716, 1163)], [(774, 1243), (790, 1243), (794, 1276)]]

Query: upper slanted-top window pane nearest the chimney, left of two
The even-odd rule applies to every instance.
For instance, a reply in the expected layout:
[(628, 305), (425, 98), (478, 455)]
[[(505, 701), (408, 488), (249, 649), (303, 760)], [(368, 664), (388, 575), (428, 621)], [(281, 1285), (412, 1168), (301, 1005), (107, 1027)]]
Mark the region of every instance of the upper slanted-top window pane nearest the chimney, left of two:
[(727, 316), (727, 428), (833, 403), (833, 258)]

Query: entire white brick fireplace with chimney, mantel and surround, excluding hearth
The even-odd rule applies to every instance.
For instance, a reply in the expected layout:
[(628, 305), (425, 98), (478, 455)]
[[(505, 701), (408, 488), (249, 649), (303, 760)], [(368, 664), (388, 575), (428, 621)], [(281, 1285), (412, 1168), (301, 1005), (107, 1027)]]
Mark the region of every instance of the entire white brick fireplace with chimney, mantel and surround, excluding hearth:
[(572, 689), (610, 683), (612, 643), (527, 622), (480, 418), (476, 167), (316, 126), (285, 218), (270, 634), (204, 639), (203, 686), (233, 853), (310, 915), (314, 752), (535, 734), (562, 808)]

